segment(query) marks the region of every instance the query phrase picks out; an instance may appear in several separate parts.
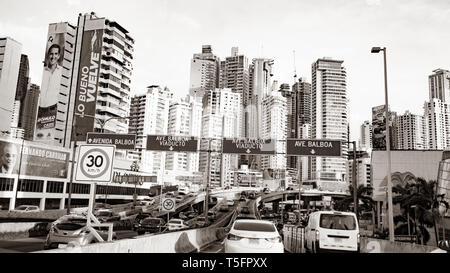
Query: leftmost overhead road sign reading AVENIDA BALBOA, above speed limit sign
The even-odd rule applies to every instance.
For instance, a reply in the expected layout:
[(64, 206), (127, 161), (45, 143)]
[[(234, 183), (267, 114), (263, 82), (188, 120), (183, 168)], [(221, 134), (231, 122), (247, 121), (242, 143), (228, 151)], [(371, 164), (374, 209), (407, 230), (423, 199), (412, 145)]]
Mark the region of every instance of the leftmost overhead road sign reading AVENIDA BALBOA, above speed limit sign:
[(136, 135), (87, 133), (86, 143), (116, 145), (117, 150), (134, 150), (136, 149)]

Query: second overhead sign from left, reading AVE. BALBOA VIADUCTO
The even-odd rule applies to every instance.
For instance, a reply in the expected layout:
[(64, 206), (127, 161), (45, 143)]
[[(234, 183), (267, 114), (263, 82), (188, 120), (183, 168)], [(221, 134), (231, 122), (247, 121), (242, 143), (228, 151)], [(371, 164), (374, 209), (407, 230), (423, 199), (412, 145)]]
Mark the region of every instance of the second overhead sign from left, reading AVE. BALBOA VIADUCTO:
[(147, 151), (192, 152), (198, 151), (198, 139), (190, 136), (147, 136)]

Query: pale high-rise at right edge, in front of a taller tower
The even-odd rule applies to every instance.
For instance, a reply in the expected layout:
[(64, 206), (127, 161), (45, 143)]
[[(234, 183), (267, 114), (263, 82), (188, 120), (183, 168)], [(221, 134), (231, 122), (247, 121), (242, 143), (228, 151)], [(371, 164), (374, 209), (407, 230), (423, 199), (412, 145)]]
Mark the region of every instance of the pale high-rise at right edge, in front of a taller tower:
[(447, 150), (450, 148), (450, 104), (440, 99), (425, 102), (424, 118), (427, 148)]

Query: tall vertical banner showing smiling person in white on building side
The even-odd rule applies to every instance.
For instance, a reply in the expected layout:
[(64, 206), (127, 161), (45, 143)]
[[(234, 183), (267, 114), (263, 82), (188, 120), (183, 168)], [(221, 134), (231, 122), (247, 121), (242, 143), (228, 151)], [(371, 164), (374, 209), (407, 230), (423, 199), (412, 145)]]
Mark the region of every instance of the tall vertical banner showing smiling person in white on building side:
[(55, 138), (58, 97), (64, 60), (64, 33), (49, 32), (36, 119), (35, 141), (52, 144)]

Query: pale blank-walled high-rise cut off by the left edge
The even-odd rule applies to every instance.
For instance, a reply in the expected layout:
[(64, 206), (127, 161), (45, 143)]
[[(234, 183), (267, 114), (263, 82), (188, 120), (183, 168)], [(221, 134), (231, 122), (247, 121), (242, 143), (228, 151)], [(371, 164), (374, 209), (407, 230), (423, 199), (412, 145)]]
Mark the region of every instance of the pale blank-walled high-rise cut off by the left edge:
[(22, 44), (12, 38), (0, 38), (0, 132), (11, 134), (13, 105), (16, 98)]

